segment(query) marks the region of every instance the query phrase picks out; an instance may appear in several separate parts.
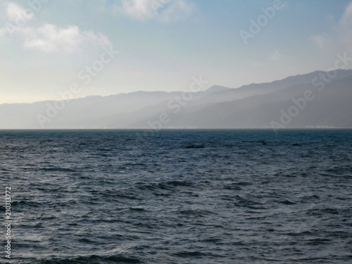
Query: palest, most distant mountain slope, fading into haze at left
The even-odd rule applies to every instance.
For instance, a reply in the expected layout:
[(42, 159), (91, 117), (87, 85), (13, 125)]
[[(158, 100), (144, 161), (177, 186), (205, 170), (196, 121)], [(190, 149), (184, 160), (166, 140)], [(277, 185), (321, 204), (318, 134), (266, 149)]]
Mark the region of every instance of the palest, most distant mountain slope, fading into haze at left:
[[(217, 92), (217, 91), (213, 91)], [(208, 92), (205, 94), (212, 94)], [(199, 99), (203, 92), (194, 94)], [(51, 122), (46, 122), (46, 128), (103, 128), (101, 120), (113, 116), (139, 111), (148, 106), (158, 105), (182, 92), (132, 92), (112, 96), (88, 96), (65, 103)], [(37, 114), (45, 115), (48, 104), (54, 106), (54, 101), (37, 103), (14, 103), (0, 105), (0, 128), (41, 128)], [(126, 122), (127, 124), (128, 122)]]

